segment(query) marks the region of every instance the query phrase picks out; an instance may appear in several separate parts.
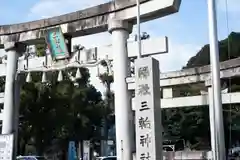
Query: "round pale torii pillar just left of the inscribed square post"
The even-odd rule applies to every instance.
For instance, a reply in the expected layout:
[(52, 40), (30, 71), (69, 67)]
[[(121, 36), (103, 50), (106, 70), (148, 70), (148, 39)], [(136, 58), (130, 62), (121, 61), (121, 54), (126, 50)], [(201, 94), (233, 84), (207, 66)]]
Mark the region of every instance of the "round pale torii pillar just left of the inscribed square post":
[(132, 25), (126, 21), (112, 19), (108, 27), (112, 34), (117, 157), (118, 160), (132, 160), (133, 114), (131, 95), (126, 82), (126, 78), (130, 76), (127, 39)]

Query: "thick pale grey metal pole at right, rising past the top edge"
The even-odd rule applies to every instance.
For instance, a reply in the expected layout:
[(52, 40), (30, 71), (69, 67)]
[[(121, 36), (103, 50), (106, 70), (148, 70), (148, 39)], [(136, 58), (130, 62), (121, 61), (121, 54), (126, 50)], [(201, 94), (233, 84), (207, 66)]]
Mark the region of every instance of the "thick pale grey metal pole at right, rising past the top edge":
[(210, 59), (212, 69), (212, 87), (213, 87), (213, 104), (214, 104), (214, 123), (216, 129), (216, 154), (218, 160), (226, 159), (226, 148), (223, 126), (222, 97), (220, 86), (220, 65), (219, 65), (219, 48), (217, 36), (217, 18), (216, 18), (216, 1), (208, 0), (208, 25), (209, 25), (209, 44)]

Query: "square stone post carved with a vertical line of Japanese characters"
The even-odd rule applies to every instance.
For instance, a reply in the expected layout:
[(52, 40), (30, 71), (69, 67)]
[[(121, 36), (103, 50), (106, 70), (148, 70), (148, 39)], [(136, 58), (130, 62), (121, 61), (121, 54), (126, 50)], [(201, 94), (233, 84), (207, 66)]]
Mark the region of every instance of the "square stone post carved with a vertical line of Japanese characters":
[(159, 62), (151, 57), (135, 61), (136, 158), (162, 160)]

